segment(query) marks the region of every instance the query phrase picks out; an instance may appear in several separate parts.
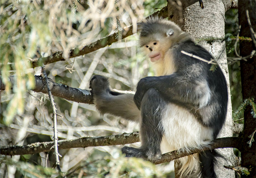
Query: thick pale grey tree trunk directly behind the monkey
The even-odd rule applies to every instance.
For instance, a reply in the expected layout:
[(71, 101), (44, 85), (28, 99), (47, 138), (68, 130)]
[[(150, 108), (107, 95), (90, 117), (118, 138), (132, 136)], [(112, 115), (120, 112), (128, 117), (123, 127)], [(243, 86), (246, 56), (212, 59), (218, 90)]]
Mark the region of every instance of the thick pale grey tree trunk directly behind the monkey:
[[(175, 1), (178, 2), (178, 1)], [(186, 32), (190, 33), (191, 36), (195, 39), (196, 43), (204, 46), (210, 53), (214, 56), (216, 61), (219, 63), (228, 84), (228, 112), (226, 117), (226, 122), (224, 127), (219, 134), (219, 137), (228, 137), (233, 135), (233, 119), (232, 119), (232, 107), (231, 107), (231, 98), (230, 98), (230, 89), (229, 89), (229, 74), (228, 74), (228, 65), (226, 57), (226, 46), (225, 42), (222, 40), (225, 37), (225, 12), (227, 10), (226, 6), (223, 4), (222, 0), (204, 0), (204, 9), (199, 6), (199, 2), (196, 1), (194, 4), (190, 5), (187, 1), (183, 0), (182, 9), (183, 17), (180, 18), (180, 13), (173, 13), (175, 9), (179, 9), (178, 5), (174, 5), (173, 1), (169, 0), (168, 11), (170, 20), (179, 24), (179, 26)], [(176, 3), (178, 4), (178, 3)], [(186, 6), (186, 5), (189, 6)], [(183, 21), (181, 21), (183, 19)], [(211, 43), (207, 42), (207, 39), (212, 40)], [(199, 39), (197, 41), (197, 39)], [(205, 40), (204, 40), (205, 39)], [(232, 148), (218, 149), (227, 161), (220, 159), (219, 166), (216, 168), (216, 173), (218, 177), (235, 177), (235, 171), (228, 170), (224, 168), (224, 165), (234, 165), (235, 155)], [(175, 163), (177, 165), (177, 163)], [(176, 173), (176, 171), (175, 171)]]

